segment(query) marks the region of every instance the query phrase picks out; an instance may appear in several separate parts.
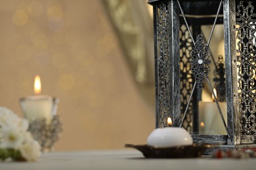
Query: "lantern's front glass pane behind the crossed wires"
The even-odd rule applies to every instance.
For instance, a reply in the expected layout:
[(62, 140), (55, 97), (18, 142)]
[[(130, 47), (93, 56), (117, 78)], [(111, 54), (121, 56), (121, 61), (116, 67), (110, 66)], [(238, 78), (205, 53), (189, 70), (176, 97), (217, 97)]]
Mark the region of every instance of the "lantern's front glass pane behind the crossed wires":
[[(181, 4), (182, 5), (182, 4)], [(218, 8), (217, 8), (218, 9)], [(215, 12), (217, 13), (217, 9)], [(192, 15), (186, 14), (184, 10), (186, 20), (189, 24), (190, 31), (194, 38), (194, 41), (200, 41), (198, 38), (201, 36), (202, 44), (207, 45), (209, 37), (211, 35), (211, 29), (213, 28), (213, 23), (215, 21), (214, 15)], [(196, 21), (196, 18), (207, 18), (207, 23), (203, 20)], [(183, 20), (183, 21), (182, 21)], [(212, 21), (212, 24), (209, 23)], [(193, 24), (193, 21), (196, 24)], [(188, 31), (188, 27), (184, 22), (184, 18), (180, 16), (180, 69), (181, 69), (181, 116), (184, 116), (186, 112), (186, 117), (182, 127), (187, 129), (192, 134), (200, 135), (226, 135), (226, 129), (224, 127), (221, 115), (215, 99), (212, 95), (212, 89), (215, 90), (215, 96), (219, 101), (219, 107), (223, 114), (225, 122), (227, 122), (226, 116), (226, 97), (225, 97), (225, 74), (224, 74), (224, 39), (223, 39), (223, 24), (220, 22), (215, 25), (213, 30), (213, 35), (211, 41), (209, 42), (209, 49), (206, 56), (200, 55), (197, 58), (193, 56), (193, 50), (195, 50), (191, 35)], [(200, 53), (200, 52), (199, 52)], [(211, 61), (211, 64), (205, 64), (204, 62)], [(193, 68), (195, 69), (207, 69), (209, 71), (206, 74), (209, 78), (209, 82), (206, 77), (200, 77), (200, 74), (194, 74)], [(194, 71), (195, 72), (195, 71)], [(196, 71), (197, 73), (198, 71)], [(192, 93), (193, 86), (195, 82), (199, 82), (202, 78), (202, 84), (197, 83), (192, 99), (190, 95)], [(211, 87), (210, 87), (211, 84)], [(190, 103), (188, 105), (190, 99)], [(188, 109), (186, 111), (186, 107)], [(183, 114), (183, 115), (182, 115)]]

